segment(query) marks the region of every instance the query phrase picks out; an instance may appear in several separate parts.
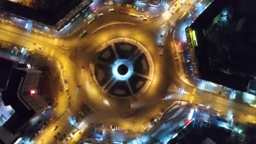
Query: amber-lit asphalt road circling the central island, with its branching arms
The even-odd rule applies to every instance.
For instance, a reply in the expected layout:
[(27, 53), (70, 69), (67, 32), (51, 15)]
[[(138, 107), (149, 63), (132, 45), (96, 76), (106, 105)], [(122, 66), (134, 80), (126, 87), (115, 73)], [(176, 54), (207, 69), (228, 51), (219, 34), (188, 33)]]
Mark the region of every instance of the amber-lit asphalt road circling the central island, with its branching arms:
[[(187, 3), (190, 3), (189, 0)], [(194, 0), (195, 1), (195, 0)], [(173, 3), (174, 5), (175, 3)], [(160, 27), (163, 24), (172, 24), (174, 27), (179, 27), (179, 17), (184, 11), (189, 11), (192, 5), (184, 5), (174, 16), (165, 15), (156, 17), (154, 19), (148, 19), (143, 21), (141, 18), (134, 18), (120, 13), (120, 9), (115, 8), (114, 12), (109, 12), (108, 8), (102, 8), (98, 13), (104, 13), (104, 16), (97, 17), (90, 25), (87, 24), (88, 19), (84, 21), (80, 18), (80, 26), (73, 27), (74, 33), (65, 38), (54, 38), (40, 33), (34, 33), (26, 31), (20, 27), (0, 23), (0, 40), (15, 43), (23, 47), (31, 49), (38, 53), (52, 56), (61, 63), (63, 66), (64, 77), (67, 77), (69, 92), (71, 94), (70, 99), (59, 102), (56, 107), (56, 111), (60, 111), (61, 117), (54, 123), (47, 131), (51, 131), (51, 128), (58, 125), (59, 128), (56, 131), (45, 132), (37, 136), (36, 141), (41, 143), (54, 143), (56, 139), (53, 138), (58, 131), (62, 132), (70, 125), (68, 122), (69, 117), (77, 116), (81, 121), (84, 121), (86, 125), (105, 123), (105, 125), (120, 125), (124, 131), (133, 131), (139, 133), (141, 126), (147, 123), (147, 121), (159, 113), (163, 107), (167, 107), (172, 100), (184, 100), (191, 103), (203, 103), (211, 104), (214, 107), (218, 107), (223, 112), (232, 110), (234, 116), (240, 121), (252, 121), (256, 120), (254, 108), (243, 106), (234, 102), (230, 102), (220, 96), (212, 96), (208, 98), (211, 93), (205, 92), (197, 96), (171, 94), (175, 99), (163, 101), (162, 98), (170, 95), (169, 87), (174, 84), (178, 88), (184, 88), (188, 93), (192, 93), (193, 87), (184, 83), (176, 72), (176, 62), (174, 60), (172, 50), (174, 47), (173, 35), (169, 33), (165, 36), (165, 33), (169, 31), (168, 28)], [(168, 13), (168, 12), (167, 12)], [(96, 14), (95, 14), (96, 15)], [(186, 17), (185, 17), (186, 18)], [(132, 24), (113, 24), (108, 27), (99, 29), (99, 27), (105, 24), (111, 24), (112, 22), (129, 22)], [(77, 23), (78, 23), (77, 22)], [(134, 24), (134, 25), (133, 25)], [(87, 30), (85, 37), (78, 37), (78, 35)], [(168, 31), (167, 31), (168, 30)], [(160, 35), (163, 37), (160, 38)], [(92, 59), (93, 53), (103, 43), (116, 37), (129, 37), (132, 38), (147, 48), (155, 65), (155, 80), (150, 85), (148, 91), (139, 99), (116, 99), (109, 97), (104, 93), (101, 93), (98, 88), (94, 87), (89, 75), (89, 63)], [(163, 56), (161, 57), (157, 50), (157, 43), (163, 43)], [(38, 47), (42, 46), (43, 49)], [(65, 49), (62, 47), (69, 47)], [(82, 70), (82, 66), (84, 69)], [(88, 78), (88, 81), (85, 79)], [(81, 85), (81, 88), (77, 88), (77, 85)], [(103, 98), (104, 101), (101, 101)], [(69, 103), (69, 108), (61, 114), (63, 109), (61, 103)], [(86, 104), (90, 112), (82, 117), (78, 114), (79, 111), (83, 111), (83, 104)], [(133, 104), (134, 107), (128, 106)], [(61, 109), (61, 110), (59, 110)], [(247, 113), (248, 116), (244, 116)], [(118, 120), (117, 120), (118, 119)], [(72, 129), (69, 129), (72, 131)], [(79, 137), (79, 136), (78, 136)], [(72, 143), (77, 138), (67, 141)], [(43, 141), (41, 141), (43, 139)]]

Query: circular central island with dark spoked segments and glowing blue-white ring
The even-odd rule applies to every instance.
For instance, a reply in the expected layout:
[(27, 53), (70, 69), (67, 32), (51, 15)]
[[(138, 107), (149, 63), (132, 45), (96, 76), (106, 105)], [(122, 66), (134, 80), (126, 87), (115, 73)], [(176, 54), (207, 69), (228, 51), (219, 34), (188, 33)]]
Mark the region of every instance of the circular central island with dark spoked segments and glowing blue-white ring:
[(152, 82), (154, 64), (143, 45), (130, 38), (115, 38), (97, 49), (90, 73), (96, 87), (104, 93), (138, 98)]

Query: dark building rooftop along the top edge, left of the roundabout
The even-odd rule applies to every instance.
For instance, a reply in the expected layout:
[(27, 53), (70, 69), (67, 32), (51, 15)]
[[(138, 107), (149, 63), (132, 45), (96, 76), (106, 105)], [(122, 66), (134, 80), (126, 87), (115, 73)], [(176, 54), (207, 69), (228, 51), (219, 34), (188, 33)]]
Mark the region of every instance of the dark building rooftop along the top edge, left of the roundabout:
[[(82, 4), (82, 1), (83, 0), (48, 0), (43, 7), (32, 8), (3, 0), (3, 3), (0, 3), (0, 10), (25, 19), (61, 28), (71, 20), (69, 18), (70, 16), (73, 17), (77, 15), (77, 13), (93, 2), (92, 0), (87, 0)], [(64, 19), (65, 17), (68, 18)]]

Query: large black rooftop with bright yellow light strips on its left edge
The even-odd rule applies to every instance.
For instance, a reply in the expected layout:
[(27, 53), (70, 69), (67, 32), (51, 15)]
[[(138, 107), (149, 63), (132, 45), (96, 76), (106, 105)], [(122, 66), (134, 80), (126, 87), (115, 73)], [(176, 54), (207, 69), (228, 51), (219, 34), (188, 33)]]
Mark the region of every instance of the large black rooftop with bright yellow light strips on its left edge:
[(253, 67), (256, 37), (252, 35), (256, 27), (248, 19), (253, 17), (253, 11), (243, 9), (250, 1), (214, 0), (186, 29), (201, 79), (247, 90), (256, 75)]

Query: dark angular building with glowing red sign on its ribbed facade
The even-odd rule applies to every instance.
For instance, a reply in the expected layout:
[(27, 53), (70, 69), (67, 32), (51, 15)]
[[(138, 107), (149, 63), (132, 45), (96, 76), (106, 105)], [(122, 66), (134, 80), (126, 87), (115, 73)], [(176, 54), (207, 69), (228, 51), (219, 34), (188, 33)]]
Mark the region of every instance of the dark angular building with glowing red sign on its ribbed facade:
[(29, 119), (49, 108), (37, 90), (41, 73), (35, 69), (13, 69), (7, 89), (3, 91), (4, 104), (11, 105), (15, 110), (3, 126), (13, 134), (18, 133)]

